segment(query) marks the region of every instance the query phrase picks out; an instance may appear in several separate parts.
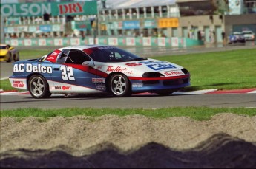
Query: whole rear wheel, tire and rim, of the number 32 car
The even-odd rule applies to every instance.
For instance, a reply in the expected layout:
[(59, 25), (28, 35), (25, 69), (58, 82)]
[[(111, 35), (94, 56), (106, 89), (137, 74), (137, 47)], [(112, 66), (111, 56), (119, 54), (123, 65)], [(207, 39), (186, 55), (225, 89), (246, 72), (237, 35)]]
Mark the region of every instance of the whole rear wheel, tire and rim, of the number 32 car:
[(36, 99), (50, 97), (49, 85), (41, 75), (33, 75), (28, 80), (28, 90)]

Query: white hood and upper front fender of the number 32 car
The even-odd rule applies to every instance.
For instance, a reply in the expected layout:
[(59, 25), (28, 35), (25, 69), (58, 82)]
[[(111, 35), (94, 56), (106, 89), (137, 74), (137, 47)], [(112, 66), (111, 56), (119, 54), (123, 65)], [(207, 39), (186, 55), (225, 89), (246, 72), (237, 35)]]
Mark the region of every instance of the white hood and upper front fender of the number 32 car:
[(143, 61), (96, 63), (96, 69), (110, 74), (111, 72), (122, 72), (128, 76), (141, 77), (145, 72), (160, 72), (165, 77), (184, 75), (182, 66), (168, 61), (148, 59)]

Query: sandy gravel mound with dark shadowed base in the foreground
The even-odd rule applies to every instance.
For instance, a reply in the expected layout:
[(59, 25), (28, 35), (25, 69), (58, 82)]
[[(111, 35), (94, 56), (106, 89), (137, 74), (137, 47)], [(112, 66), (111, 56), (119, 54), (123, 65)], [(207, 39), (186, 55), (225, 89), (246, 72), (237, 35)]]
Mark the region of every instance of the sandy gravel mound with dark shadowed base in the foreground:
[(1, 118), (1, 167), (256, 167), (256, 117)]

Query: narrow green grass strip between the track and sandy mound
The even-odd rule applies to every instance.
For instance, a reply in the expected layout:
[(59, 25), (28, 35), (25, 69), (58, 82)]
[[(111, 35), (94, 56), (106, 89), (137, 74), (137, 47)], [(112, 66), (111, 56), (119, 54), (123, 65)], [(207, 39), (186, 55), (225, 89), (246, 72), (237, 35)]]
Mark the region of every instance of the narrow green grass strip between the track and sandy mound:
[(191, 117), (194, 120), (209, 120), (215, 114), (233, 113), (256, 116), (256, 108), (209, 108), (209, 107), (172, 107), (172, 108), (18, 108), (14, 110), (2, 110), (1, 117), (73, 117), (89, 116), (100, 117), (103, 115), (117, 115), (120, 117), (139, 114), (145, 117), (167, 118), (167, 117)]

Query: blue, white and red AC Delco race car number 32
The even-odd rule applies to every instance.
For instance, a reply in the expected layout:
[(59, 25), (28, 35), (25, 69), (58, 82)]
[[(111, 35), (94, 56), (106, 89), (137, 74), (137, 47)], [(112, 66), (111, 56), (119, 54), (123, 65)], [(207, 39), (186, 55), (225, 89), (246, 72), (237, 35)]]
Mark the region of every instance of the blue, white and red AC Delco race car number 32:
[(171, 94), (190, 85), (190, 73), (177, 64), (140, 58), (116, 46), (87, 45), (15, 62), (9, 80), (34, 98), (99, 92), (128, 97), (142, 92)]

